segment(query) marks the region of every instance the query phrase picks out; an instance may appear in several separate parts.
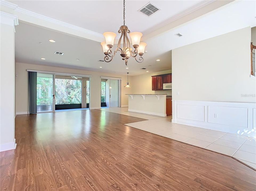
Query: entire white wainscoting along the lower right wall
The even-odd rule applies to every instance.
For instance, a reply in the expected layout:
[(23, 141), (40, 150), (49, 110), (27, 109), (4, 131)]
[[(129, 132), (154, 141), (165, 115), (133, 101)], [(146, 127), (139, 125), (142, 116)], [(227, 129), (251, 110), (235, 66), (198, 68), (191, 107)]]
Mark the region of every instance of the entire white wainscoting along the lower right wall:
[(256, 103), (172, 100), (172, 122), (256, 137)]

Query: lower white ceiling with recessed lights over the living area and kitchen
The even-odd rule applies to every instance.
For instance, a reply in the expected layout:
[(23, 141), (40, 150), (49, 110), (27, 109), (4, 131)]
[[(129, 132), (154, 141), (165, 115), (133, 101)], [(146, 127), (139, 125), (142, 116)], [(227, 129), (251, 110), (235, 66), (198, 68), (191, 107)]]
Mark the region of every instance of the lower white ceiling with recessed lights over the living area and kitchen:
[[(98, 62), (104, 59), (99, 42), (82, 39), (42, 27), (19, 23), (15, 26), (15, 62), (31, 63), (58, 67), (77, 68), (84, 70), (123, 73), (131, 75), (145, 73), (140, 68), (147, 68), (150, 72), (169, 70), (171, 68), (171, 51), (145, 54), (144, 62), (137, 63), (135, 59), (128, 60), (125, 66), (121, 56), (117, 54), (109, 63)], [(56, 42), (49, 42), (54, 39)], [(42, 42), (42, 44), (39, 44)], [(115, 46), (114, 46), (115, 47)], [(54, 54), (55, 51), (64, 53)], [(45, 58), (42, 60), (40, 58)], [(79, 59), (77, 61), (76, 59)], [(156, 62), (161, 59), (160, 62)], [(148, 65), (152, 65), (148, 67)], [(99, 67), (103, 68), (99, 68)], [(129, 67), (129, 69), (126, 69)]]

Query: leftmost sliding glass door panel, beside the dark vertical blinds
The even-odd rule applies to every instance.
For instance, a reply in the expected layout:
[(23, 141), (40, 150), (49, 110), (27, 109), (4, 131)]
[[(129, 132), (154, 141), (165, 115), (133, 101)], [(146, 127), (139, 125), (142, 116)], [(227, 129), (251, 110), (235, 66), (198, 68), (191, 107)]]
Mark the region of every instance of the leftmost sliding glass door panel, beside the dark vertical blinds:
[(36, 95), (36, 106), (38, 113), (55, 110), (53, 74), (37, 73)]

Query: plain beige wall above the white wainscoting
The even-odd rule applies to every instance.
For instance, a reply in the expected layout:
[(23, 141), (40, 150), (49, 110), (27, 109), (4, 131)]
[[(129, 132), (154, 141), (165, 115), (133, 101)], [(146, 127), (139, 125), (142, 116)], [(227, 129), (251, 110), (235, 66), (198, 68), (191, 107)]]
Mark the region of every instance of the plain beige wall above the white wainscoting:
[(172, 50), (173, 100), (255, 102), (250, 34), (247, 27)]

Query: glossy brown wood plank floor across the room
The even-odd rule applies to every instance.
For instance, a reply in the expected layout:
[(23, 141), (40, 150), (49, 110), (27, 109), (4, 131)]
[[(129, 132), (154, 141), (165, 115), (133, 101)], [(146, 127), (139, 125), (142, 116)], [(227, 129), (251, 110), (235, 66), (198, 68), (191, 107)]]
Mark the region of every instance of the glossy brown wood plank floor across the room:
[(123, 124), (100, 110), (17, 115), (1, 190), (256, 190), (256, 171), (221, 154)]

